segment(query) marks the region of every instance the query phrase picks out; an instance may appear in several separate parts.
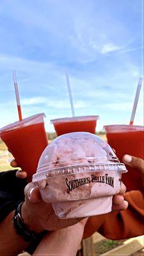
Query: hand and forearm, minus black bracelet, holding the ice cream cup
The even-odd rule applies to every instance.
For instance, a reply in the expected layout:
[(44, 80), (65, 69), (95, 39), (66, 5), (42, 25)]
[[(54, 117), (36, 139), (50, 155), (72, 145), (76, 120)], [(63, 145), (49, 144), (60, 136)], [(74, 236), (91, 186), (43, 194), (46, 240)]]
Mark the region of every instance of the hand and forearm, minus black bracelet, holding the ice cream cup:
[[(25, 202), (22, 205), (21, 216), (26, 226), (36, 233), (43, 230), (57, 230), (77, 223), (79, 220), (58, 220), (51, 204), (42, 201), (39, 190), (29, 184), (25, 189)], [(0, 255), (17, 255), (29, 244), (18, 236), (13, 229), (14, 211), (10, 212), (0, 223)], [(67, 232), (66, 232), (67, 233)], [(56, 233), (56, 237), (58, 234)], [(81, 234), (82, 236), (82, 234)], [(51, 238), (51, 237), (50, 237)]]

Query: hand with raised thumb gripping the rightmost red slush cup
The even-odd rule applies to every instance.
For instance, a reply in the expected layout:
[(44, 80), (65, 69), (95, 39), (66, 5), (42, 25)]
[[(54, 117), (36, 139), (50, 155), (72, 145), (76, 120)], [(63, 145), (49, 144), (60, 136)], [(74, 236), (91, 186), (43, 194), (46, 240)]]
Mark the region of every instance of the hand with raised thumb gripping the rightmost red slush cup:
[(122, 161), (127, 165), (139, 172), (141, 175), (141, 192), (144, 193), (144, 161), (139, 157), (134, 157), (130, 155), (124, 155)]

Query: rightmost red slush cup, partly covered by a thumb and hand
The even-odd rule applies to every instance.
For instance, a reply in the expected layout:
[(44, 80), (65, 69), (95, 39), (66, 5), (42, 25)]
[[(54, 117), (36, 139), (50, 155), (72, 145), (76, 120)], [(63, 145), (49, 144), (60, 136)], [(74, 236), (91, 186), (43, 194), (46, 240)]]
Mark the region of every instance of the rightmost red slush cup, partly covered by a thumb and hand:
[[(125, 154), (144, 159), (144, 127), (139, 125), (105, 125), (108, 143), (116, 150), (116, 156), (122, 161)], [(141, 175), (127, 166), (128, 175), (122, 177), (127, 190), (141, 190)]]

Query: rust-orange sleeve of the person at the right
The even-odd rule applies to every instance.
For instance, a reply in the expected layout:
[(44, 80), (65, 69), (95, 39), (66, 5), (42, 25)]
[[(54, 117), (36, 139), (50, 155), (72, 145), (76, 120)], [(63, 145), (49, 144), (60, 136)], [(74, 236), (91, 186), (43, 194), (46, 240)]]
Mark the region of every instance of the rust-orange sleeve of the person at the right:
[(125, 211), (111, 212), (88, 219), (83, 238), (91, 236), (95, 231), (109, 239), (126, 239), (143, 235), (144, 205), (140, 191), (125, 193), (129, 207)]

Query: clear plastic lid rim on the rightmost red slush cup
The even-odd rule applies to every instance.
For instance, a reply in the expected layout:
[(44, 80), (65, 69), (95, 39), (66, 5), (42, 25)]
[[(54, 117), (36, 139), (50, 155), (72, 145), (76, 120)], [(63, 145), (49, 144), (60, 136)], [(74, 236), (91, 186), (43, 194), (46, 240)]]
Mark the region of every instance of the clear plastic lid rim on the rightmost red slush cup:
[(127, 124), (113, 124), (104, 125), (104, 129), (108, 133), (112, 132), (134, 132), (134, 131), (144, 131), (144, 126), (142, 125), (127, 125)]

